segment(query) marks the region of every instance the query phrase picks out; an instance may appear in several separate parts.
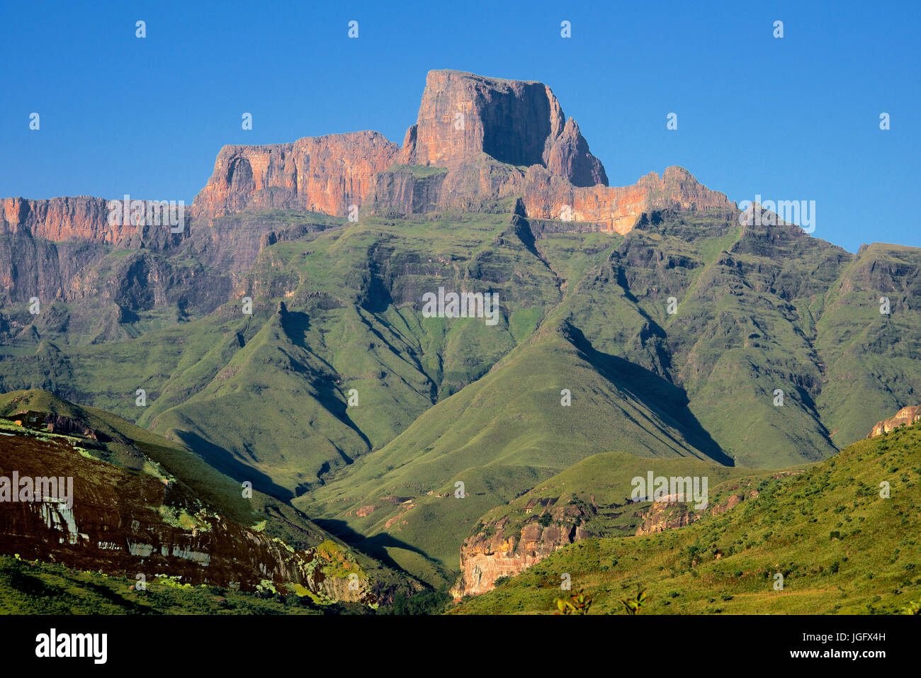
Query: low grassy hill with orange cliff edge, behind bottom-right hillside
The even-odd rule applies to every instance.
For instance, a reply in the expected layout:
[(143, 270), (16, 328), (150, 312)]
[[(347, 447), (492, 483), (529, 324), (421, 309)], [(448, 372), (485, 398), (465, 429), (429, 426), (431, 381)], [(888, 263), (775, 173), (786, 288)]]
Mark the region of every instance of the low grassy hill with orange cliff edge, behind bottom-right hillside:
[[(461, 577), (451, 593), (461, 598), (491, 590), (497, 579), (583, 539), (661, 532), (735, 509), (778, 473), (799, 471), (753, 473), (695, 459), (592, 455), (482, 516), (461, 545)], [(635, 491), (635, 479), (646, 484), (650, 474), (653, 485)], [(654, 501), (657, 478), (669, 486), (666, 497)]]

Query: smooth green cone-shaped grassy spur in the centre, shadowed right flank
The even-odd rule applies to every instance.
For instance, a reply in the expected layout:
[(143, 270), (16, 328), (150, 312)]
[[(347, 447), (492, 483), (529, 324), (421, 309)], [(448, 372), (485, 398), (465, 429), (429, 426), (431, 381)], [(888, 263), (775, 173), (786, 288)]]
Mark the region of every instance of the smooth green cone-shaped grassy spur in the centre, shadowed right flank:
[[(340, 530), (386, 534), (454, 570), (472, 520), (600, 450), (697, 458), (707, 450), (729, 462), (683, 426), (682, 402), (667, 384), (650, 396), (655, 380), (623, 361), (605, 362), (571, 326), (545, 325), (482, 380), (295, 504), (341, 521)], [(569, 406), (561, 404), (564, 389)], [(454, 497), (458, 482), (469, 495), (462, 501)]]

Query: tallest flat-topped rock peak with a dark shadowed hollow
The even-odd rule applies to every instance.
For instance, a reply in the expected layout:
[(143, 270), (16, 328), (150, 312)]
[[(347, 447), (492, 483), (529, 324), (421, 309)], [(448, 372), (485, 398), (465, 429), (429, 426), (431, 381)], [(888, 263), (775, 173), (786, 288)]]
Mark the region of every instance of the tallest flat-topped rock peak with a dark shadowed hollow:
[(608, 184), (576, 121), (546, 85), (429, 71), (400, 162), (458, 169), (482, 153), (507, 165), (541, 165), (576, 186)]

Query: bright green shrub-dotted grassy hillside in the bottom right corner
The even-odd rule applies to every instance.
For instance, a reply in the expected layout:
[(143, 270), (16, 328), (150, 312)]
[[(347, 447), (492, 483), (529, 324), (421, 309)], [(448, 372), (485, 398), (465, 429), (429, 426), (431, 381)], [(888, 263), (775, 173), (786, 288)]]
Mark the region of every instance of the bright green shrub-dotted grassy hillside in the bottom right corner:
[(567, 573), (573, 592), (593, 596), (591, 613), (622, 613), (618, 599), (637, 588), (647, 591), (644, 614), (899, 612), (921, 598), (919, 483), (915, 425), (764, 479), (757, 497), (687, 527), (565, 546), (453, 611), (552, 614)]

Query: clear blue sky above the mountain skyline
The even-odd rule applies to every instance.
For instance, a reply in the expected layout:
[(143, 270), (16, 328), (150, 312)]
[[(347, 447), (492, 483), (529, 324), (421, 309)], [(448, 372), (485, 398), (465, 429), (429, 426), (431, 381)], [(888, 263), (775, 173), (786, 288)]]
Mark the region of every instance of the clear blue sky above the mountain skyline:
[(612, 185), (682, 165), (737, 202), (815, 200), (813, 235), (850, 251), (921, 246), (921, 3), (595, 4), (7, 0), (0, 196), (191, 204), (225, 144), (401, 144), (426, 71), (455, 68), (548, 84)]

